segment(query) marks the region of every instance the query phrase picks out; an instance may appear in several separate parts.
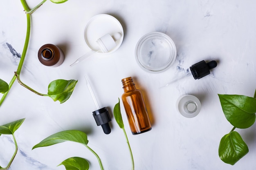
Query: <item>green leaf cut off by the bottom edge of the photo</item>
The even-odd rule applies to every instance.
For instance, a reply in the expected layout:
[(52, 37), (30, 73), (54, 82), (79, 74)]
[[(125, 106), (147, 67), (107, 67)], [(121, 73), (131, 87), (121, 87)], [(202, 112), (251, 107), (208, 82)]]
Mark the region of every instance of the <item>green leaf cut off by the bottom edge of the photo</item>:
[(64, 165), (66, 170), (89, 170), (89, 163), (81, 157), (71, 157), (63, 161), (60, 165)]

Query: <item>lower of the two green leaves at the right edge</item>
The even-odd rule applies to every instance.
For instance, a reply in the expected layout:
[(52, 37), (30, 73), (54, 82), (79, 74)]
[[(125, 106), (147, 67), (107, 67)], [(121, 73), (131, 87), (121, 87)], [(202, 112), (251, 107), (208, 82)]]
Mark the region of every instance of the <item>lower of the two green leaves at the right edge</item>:
[(219, 156), (225, 163), (234, 165), (248, 152), (249, 149), (238, 132), (230, 132), (220, 140)]

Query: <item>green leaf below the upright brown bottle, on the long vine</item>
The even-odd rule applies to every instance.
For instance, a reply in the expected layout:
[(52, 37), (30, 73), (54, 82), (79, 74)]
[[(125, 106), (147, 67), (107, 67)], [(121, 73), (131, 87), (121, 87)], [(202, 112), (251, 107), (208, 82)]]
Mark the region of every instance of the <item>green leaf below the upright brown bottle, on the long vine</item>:
[(48, 95), (54, 102), (57, 100), (61, 103), (67, 101), (70, 98), (74, 88), (76, 86), (77, 80), (64, 80), (57, 79), (52, 81), (48, 86)]

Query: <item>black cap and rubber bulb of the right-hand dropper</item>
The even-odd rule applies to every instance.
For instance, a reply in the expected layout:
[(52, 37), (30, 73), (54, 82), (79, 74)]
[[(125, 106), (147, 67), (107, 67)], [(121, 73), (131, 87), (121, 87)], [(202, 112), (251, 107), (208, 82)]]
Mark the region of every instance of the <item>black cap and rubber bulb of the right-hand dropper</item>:
[(190, 68), (191, 73), (194, 77), (194, 79), (200, 79), (206, 75), (210, 74), (210, 70), (215, 68), (217, 66), (217, 62), (216, 61), (210, 61), (208, 63), (206, 63), (204, 60), (193, 64)]

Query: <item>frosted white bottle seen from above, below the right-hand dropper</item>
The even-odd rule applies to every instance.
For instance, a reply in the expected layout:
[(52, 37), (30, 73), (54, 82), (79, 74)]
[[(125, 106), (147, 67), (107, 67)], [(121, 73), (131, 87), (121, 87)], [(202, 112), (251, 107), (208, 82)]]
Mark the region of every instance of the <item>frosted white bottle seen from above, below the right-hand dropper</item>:
[(201, 110), (199, 99), (193, 95), (182, 95), (177, 99), (176, 108), (184, 117), (195, 117)]

